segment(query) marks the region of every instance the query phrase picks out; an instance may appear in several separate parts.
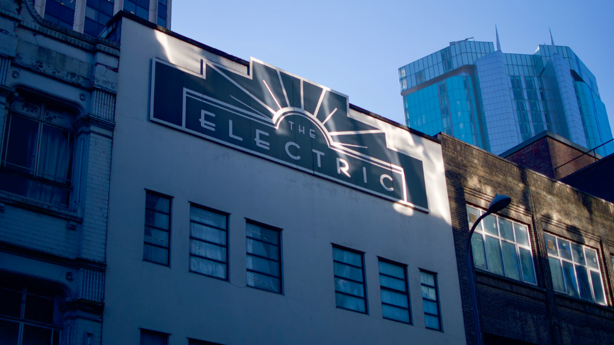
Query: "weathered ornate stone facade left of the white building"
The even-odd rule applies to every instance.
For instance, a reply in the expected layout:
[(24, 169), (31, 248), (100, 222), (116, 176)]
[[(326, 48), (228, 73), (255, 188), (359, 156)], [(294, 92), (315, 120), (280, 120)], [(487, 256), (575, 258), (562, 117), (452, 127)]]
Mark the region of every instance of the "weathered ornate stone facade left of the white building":
[(117, 42), (0, 1), (0, 292), (25, 310), (0, 314), (10, 344), (101, 343), (118, 66)]

